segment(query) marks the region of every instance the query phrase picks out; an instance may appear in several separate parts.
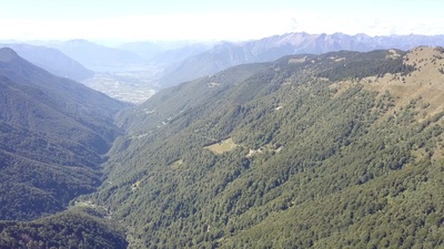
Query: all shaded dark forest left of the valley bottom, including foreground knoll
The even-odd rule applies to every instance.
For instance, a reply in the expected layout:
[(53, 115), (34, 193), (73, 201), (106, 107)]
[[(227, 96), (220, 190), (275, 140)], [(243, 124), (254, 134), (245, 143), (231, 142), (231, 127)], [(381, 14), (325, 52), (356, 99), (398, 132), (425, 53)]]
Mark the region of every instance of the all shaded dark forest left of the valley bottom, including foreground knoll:
[(127, 106), (0, 49), (0, 248), (127, 247), (100, 211), (68, 210), (104, 179)]

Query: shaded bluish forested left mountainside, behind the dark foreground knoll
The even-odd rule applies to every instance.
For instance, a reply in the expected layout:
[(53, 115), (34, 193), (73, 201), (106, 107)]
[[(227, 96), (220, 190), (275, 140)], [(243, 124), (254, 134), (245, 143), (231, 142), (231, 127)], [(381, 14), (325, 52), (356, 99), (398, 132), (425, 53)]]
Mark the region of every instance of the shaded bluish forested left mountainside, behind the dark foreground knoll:
[(63, 210), (102, 180), (125, 104), (0, 49), (0, 219)]

